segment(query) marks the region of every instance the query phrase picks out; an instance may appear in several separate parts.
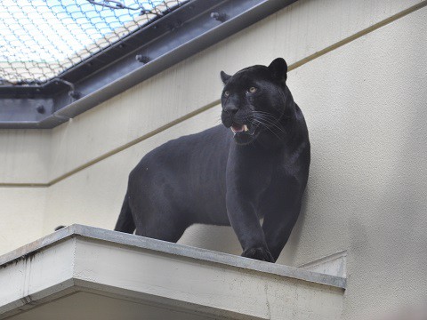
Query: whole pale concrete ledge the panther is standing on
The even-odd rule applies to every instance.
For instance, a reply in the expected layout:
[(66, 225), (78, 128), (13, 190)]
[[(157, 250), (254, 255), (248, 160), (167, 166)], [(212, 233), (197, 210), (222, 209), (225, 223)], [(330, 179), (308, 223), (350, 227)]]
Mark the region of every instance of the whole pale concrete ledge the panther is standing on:
[(0, 288), (0, 319), (340, 319), (345, 279), (73, 225), (1, 256)]

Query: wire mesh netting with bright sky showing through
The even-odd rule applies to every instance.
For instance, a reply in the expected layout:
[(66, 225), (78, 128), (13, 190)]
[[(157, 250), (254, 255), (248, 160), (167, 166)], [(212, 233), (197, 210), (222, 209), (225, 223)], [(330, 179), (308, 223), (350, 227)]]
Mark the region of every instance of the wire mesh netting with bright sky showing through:
[(44, 84), (186, 2), (3, 0), (0, 85)]

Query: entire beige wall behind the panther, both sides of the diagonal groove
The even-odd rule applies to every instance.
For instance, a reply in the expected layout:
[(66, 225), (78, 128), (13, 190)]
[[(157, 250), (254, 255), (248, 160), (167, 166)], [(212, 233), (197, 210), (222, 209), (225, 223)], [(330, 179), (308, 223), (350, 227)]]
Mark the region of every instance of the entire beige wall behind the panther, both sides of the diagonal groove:
[[(283, 56), (309, 125), (312, 164), (301, 217), (278, 262), (299, 266), (347, 251), (345, 319), (421, 303), (425, 4), (300, 0), (50, 132), (1, 131), (0, 252), (59, 224), (113, 228), (141, 156), (219, 123), (220, 70)], [(194, 226), (181, 243), (240, 253), (230, 228)]]

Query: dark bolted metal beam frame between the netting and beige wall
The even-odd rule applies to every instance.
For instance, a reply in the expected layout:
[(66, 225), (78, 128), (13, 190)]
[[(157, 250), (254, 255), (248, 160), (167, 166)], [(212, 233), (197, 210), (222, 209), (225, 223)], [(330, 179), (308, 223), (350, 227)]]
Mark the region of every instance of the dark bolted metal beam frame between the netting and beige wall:
[(0, 129), (50, 129), (296, 0), (192, 0), (42, 85), (0, 86)]

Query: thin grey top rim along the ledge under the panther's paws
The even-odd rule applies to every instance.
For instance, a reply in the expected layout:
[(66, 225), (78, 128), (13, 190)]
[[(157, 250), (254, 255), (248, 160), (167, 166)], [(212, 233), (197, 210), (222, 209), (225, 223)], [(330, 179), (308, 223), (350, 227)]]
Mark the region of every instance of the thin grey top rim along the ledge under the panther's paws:
[(57, 244), (65, 239), (76, 236), (146, 249), (154, 252), (177, 255), (194, 260), (219, 263), (232, 268), (244, 268), (265, 274), (271, 274), (274, 276), (294, 278), (310, 283), (326, 284), (342, 289), (345, 289), (346, 287), (346, 278), (341, 276), (329, 276), (317, 272), (303, 270), (301, 268), (293, 268), (285, 265), (252, 260), (237, 255), (213, 252), (188, 245), (173, 244), (144, 236), (134, 236), (117, 231), (93, 228), (78, 224), (68, 226), (67, 228), (62, 228), (59, 231), (52, 233), (51, 235), (44, 236), (33, 243), (26, 244), (12, 252), (0, 256), (0, 267), (6, 267), (14, 260), (27, 258), (28, 255), (34, 255), (36, 252), (39, 252), (42, 249), (51, 246), (52, 244)]

